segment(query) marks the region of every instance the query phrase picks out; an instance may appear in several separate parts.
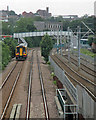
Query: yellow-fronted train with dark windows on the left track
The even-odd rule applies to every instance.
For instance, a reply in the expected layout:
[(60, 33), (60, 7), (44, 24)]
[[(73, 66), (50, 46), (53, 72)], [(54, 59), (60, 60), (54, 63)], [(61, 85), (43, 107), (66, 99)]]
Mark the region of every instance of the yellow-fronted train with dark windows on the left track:
[(27, 46), (24, 43), (16, 46), (16, 60), (25, 60), (27, 58)]

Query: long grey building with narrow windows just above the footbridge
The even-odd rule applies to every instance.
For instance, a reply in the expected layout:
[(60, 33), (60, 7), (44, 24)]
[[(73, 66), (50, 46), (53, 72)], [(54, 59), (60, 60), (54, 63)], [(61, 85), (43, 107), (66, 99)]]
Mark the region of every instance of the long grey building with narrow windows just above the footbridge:
[(37, 30), (40, 30), (40, 31), (43, 31), (43, 30), (49, 30), (49, 31), (63, 30), (62, 22), (35, 21), (34, 25), (37, 28)]

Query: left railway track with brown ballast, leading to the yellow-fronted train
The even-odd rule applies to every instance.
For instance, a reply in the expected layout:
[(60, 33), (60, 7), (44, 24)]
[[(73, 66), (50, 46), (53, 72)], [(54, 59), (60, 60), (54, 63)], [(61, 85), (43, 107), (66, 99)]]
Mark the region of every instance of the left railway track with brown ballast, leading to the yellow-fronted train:
[(15, 87), (20, 77), (23, 64), (24, 62), (19, 62), (18, 64), (16, 64), (9, 72), (10, 74), (8, 74), (8, 76), (1, 85), (0, 92), (2, 92), (3, 101), (2, 101), (2, 114), (0, 116), (0, 120), (4, 119), (4, 115), (8, 109), (9, 103), (11, 101)]

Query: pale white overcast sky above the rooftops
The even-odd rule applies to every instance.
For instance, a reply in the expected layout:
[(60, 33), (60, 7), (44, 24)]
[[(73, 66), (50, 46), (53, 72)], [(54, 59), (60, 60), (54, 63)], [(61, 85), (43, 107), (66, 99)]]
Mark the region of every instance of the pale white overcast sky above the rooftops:
[(52, 15), (79, 15), (94, 14), (96, 0), (0, 0), (0, 10), (14, 10), (17, 14), (23, 11), (35, 13), (38, 9), (49, 7)]

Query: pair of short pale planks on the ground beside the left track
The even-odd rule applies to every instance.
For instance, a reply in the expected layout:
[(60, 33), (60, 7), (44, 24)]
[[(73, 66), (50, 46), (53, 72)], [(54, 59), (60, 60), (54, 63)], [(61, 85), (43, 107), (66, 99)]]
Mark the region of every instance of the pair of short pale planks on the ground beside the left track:
[(19, 119), (20, 117), (20, 110), (21, 110), (22, 104), (14, 104), (11, 114), (10, 114), (10, 120)]

